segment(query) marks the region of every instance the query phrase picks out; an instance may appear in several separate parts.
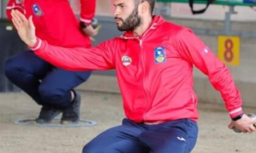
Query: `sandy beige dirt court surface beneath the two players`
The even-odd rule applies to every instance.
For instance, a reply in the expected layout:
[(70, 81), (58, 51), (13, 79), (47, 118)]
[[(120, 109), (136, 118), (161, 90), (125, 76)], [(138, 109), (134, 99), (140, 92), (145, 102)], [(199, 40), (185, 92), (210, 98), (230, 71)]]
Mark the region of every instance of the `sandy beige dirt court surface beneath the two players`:
[[(38, 127), (15, 124), (15, 120), (35, 118), (40, 106), (24, 93), (0, 94), (0, 152), (1, 153), (73, 153), (108, 127), (124, 118), (121, 97), (80, 91), (81, 117), (97, 121), (92, 127)], [(254, 108), (245, 108), (256, 113)], [(227, 128), (229, 115), (224, 106), (199, 104), (199, 138), (193, 153), (256, 152), (255, 134), (236, 134)], [(111, 153), (111, 152), (110, 152)], [(174, 152), (175, 153), (175, 152)]]

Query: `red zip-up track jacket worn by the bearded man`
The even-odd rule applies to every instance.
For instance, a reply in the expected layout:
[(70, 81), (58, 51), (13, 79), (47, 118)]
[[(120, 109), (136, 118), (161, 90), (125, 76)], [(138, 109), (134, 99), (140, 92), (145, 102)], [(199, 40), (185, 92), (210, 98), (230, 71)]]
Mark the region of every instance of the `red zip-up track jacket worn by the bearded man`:
[(221, 92), (230, 117), (243, 112), (240, 92), (227, 67), (190, 29), (160, 16), (154, 16), (140, 37), (126, 32), (93, 49), (67, 49), (37, 39), (32, 50), (63, 69), (116, 69), (124, 112), (137, 123), (197, 120), (193, 66), (208, 75), (210, 83)]

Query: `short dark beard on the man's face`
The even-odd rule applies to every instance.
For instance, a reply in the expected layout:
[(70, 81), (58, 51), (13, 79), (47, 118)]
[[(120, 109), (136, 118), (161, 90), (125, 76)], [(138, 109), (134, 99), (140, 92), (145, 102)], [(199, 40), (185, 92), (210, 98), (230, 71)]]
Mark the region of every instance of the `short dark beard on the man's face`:
[[(121, 18), (115, 18), (115, 19), (121, 19)], [(139, 27), (141, 25), (141, 18), (140, 16), (138, 16), (138, 9), (134, 9), (132, 11), (132, 13), (126, 18), (126, 20), (124, 21), (123, 19), (121, 19), (121, 21), (123, 21), (123, 25), (118, 26), (118, 30), (123, 32), (123, 31), (133, 31), (135, 29), (137, 29), (137, 27)]]

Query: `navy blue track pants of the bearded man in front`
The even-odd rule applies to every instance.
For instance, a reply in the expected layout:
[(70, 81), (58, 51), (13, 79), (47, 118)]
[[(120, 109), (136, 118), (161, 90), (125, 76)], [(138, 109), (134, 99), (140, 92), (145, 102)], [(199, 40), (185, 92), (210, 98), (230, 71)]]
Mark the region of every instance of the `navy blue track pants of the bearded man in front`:
[(121, 126), (86, 144), (83, 153), (187, 153), (196, 144), (197, 132), (196, 122), (189, 119), (147, 125), (124, 118)]

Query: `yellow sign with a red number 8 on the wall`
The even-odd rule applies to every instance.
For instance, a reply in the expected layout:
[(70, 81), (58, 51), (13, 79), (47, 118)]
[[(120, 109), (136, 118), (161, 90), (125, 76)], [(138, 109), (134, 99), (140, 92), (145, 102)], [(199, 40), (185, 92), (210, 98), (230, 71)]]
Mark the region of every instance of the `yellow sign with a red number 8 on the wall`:
[(225, 64), (239, 66), (240, 38), (238, 36), (218, 36), (218, 57)]

